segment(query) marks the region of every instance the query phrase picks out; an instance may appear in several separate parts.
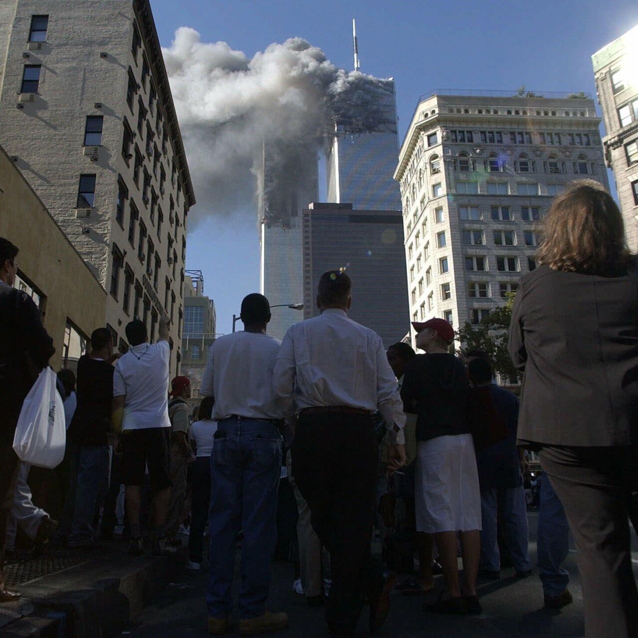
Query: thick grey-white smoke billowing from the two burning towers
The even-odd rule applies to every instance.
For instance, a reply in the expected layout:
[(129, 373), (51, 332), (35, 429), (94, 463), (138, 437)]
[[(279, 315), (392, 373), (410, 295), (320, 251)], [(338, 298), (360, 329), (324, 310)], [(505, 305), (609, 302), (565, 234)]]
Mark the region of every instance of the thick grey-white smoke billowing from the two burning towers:
[(378, 100), (393, 91), (391, 82), (340, 70), (301, 38), (248, 59), (181, 27), (163, 54), (198, 200), (191, 225), (209, 214), (255, 210), (253, 167), (264, 144), (318, 149), (335, 121), (352, 131), (396, 130)]

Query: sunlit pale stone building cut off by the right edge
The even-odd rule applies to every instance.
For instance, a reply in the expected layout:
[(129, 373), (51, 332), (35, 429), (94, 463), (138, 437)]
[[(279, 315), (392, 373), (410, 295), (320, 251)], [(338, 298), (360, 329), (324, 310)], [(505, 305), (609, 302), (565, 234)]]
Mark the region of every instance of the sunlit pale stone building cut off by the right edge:
[(629, 248), (638, 250), (638, 26), (591, 56)]

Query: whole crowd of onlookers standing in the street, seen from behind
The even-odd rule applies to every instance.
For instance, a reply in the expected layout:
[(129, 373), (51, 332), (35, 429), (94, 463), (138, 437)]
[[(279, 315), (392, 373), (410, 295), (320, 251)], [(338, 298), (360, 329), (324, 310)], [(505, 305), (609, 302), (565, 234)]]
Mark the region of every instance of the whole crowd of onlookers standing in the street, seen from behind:
[[(320, 314), (281, 343), (267, 334), (268, 300), (244, 298), (244, 330), (212, 344), (192, 424), (188, 379), (174, 378), (168, 393), (167, 318), (153, 344), (144, 323), (130, 322), (124, 355), (113, 353), (107, 329), (96, 330), (77, 387), (60, 375), (69, 481), (57, 530), (29, 506), (29, 470), (11, 448), (20, 405), (53, 353), (33, 302), (11, 287), (16, 256), (0, 239), (0, 382), (10, 389), (0, 413), (2, 553), (8, 521), (36, 545), (54, 533), (70, 547), (92, 545), (100, 508), (108, 527), (109, 494), (121, 484), (129, 551), (144, 552), (148, 520), (152, 552), (167, 553), (189, 484), (191, 569), (204, 563), (209, 530), (209, 632), (230, 628), (238, 538), (239, 633), (276, 631), (288, 624), (285, 612), (267, 609), (286, 477), (299, 514), (297, 590), (309, 605), (326, 605), (331, 635), (352, 636), (366, 604), (378, 630), (395, 587), (420, 595), (427, 612), (480, 614), (479, 579), (499, 579), (507, 565), (516, 577), (532, 574), (524, 476), (534, 453), (543, 468), (544, 605), (572, 602), (563, 568), (571, 530), (587, 637), (638, 636), (629, 527), (638, 508), (638, 267), (618, 207), (597, 182), (574, 182), (556, 197), (540, 265), (521, 279), (508, 345), (523, 378), (520, 402), (494, 382), (486, 352), (451, 352), (456, 335), (443, 319), (413, 323), (424, 354), (406, 343), (386, 350), (348, 318), (343, 269), (323, 274)], [(375, 524), (383, 560), (371, 551)], [(416, 575), (396, 584), (389, 567), (412, 572), (415, 560)], [(18, 596), (0, 572), (0, 601)]]

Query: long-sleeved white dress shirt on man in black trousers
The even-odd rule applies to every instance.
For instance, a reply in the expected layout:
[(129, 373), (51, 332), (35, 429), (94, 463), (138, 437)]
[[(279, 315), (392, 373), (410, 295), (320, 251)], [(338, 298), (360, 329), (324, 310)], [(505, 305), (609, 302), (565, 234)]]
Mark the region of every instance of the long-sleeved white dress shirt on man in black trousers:
[(286, 417), (304, 408), (348, 406), (381, 412), (396, 442), (404, 443), (405, 415), (383, 341), (345, 311), (327, 308), (286, 332), (272, 379)]

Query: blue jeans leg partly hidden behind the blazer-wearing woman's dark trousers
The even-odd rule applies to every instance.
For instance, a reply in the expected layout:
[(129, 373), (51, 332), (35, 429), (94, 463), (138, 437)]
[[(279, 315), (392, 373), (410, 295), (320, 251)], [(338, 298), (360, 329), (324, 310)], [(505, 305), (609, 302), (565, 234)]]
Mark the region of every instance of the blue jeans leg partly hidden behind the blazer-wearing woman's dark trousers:
[(545, 596), (558, 596), (569, 584), (569, 574), (562, 567), (569, 552), (569, 524), (545, 472), (540, 475), (538, 484), (538, 574)]

